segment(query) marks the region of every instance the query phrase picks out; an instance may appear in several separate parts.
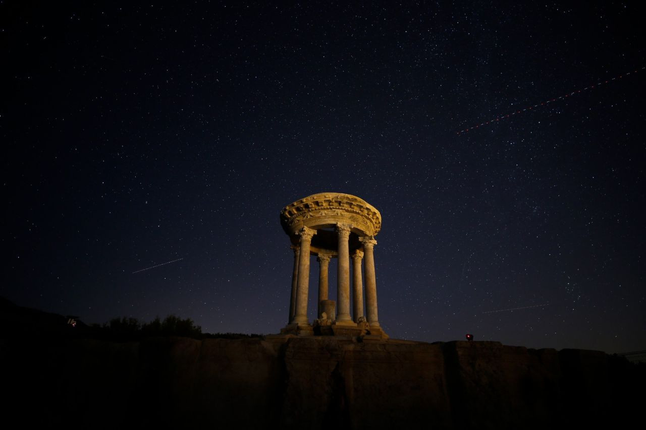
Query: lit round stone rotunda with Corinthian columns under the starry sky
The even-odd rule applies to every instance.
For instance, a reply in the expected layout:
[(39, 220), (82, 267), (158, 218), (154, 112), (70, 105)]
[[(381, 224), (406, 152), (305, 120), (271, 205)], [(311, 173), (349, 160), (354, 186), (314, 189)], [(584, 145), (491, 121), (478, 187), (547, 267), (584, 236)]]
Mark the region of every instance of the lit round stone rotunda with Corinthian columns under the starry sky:
[[(322, 192), (287, 205), (280, 223), (294, 251), (289, 320), (282, 334), (388, 336), (377, 317), (377, 284), (373, 248), (381, 229), (379, 210), (356, 196)], [(309, 261), (317, 256), (318, 315), (307, 319)], [(337, 300), (328, 298), (328, 265), (338, 258)], [(352, 311), (350, 311), (350, 259)], [(362, 276), (363, 261), (363, 276)], [(364, 287), (366, 313), (364, 315)]]

